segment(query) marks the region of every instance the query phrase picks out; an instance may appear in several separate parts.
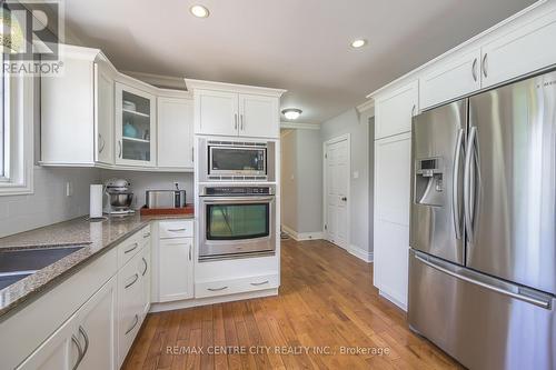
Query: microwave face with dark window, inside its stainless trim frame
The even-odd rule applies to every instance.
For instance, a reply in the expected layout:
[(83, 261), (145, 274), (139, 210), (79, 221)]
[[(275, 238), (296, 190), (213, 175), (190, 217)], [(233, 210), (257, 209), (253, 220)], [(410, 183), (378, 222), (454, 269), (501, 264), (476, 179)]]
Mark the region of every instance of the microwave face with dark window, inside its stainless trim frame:
[(209, 176), (266, 176), (267, 148), (209, 146)]

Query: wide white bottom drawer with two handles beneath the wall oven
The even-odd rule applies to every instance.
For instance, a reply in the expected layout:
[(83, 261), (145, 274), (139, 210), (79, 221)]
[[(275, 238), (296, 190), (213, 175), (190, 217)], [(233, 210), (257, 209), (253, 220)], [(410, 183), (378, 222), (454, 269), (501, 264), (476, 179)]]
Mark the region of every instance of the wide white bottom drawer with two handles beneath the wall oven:
[(199, 282), (195, 284), (195, 298), (236, 294), (256, 290), (278, 288), (278, 273), (231, 280)]

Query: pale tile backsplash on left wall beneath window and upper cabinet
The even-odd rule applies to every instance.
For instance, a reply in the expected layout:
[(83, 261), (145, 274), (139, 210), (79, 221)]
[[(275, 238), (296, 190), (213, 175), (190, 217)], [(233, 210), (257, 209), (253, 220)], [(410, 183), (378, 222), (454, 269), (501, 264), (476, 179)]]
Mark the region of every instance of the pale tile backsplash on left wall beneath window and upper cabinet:
[(32, 194), (0, 197), (0, 237), (89, 213), (89, 184), (99, 180), (98, 169), (34, 167)]

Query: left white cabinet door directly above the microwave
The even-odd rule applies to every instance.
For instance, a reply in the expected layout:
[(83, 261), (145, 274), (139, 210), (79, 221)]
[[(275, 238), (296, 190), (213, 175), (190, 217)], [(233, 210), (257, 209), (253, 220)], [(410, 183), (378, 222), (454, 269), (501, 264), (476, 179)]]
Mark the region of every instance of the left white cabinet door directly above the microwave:
[(239, 97), (234, 92), (196, 90), (196, 133), (237, 136)]

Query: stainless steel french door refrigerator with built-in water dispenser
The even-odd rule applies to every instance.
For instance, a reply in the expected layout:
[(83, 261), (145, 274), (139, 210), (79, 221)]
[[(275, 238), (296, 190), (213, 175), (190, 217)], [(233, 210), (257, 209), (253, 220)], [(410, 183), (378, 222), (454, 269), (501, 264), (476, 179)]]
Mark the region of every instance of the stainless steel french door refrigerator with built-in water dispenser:
[(556, 369), (556, 72), (413, 121), (408, 321), (469, 369)]

